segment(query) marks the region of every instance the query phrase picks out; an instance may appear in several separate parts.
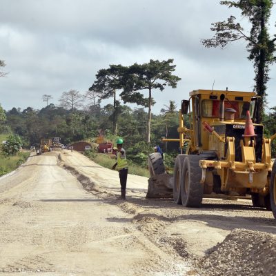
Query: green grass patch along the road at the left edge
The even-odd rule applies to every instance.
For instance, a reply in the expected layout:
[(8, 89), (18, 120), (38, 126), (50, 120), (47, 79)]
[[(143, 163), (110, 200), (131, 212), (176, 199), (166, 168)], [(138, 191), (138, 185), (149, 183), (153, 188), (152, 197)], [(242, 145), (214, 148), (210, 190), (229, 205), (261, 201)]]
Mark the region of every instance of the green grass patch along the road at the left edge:
[(12, 172), (12, 170), (15, 170), (21, 164), (25, 163), (29, 155), (30, 152), (19, 152), (18, 155), (8, 157), (0, 154), (0, 176)]

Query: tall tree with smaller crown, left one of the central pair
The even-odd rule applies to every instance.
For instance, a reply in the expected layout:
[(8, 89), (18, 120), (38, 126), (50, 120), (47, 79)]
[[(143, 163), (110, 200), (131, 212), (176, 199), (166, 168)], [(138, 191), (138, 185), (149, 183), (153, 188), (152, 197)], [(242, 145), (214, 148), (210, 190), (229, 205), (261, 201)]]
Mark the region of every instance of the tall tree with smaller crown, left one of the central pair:
[(100, 99), (113, 97), (112, 132), (117, 135), (117, 120), (120, 104), (117, 101), (117, 90), (121, 89), (121, 79), (126, 72), (126, 67), (119, 65), (110, 65), (108, 69), (101, 69), (96, 75), (96, 81), (89, 88), (89, 91), (98, 92)]

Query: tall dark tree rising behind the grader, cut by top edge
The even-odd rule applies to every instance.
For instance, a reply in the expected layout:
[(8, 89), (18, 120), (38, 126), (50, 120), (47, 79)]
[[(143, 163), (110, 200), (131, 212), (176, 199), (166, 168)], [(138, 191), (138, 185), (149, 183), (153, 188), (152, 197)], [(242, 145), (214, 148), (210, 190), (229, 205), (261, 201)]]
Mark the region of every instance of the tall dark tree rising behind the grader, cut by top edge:
[(242, 16), (247, 17), (251, 23), (250, 33), (246, 33), (241, 23), (237, 23), (236, 18), (230, 16), (227, 21), (212, 23), (211, 30), (215, 35), (212, 39), (203, 39), (202, 43), (207, 48), (218, 46), (224, 48), (232, 41), (243, 39), (247, 42), (248, 59), (253, 61), (255, 68), (255, 90), (260, 96), (256, 115), (256, 122), (260, 123), (264, 114), (269, 65), (276, 60), (274, 57), (276, 37), (271, 39), (268, 34), (268, 19), (273, 0), (221, 1), (220, 4), (228, 8), (239, 8)]

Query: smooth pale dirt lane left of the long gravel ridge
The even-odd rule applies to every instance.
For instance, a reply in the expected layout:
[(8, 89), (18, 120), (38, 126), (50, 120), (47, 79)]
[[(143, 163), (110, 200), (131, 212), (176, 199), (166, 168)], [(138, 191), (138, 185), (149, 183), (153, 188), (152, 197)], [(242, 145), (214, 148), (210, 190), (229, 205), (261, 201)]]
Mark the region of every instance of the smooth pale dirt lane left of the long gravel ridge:
[[(170, 275), (173, 259), (115, 202), (92, 195), (57, 164), (32, 156), (0, 179), (0, 275)], [(182, 274), (183, 275), (183, 274)]]

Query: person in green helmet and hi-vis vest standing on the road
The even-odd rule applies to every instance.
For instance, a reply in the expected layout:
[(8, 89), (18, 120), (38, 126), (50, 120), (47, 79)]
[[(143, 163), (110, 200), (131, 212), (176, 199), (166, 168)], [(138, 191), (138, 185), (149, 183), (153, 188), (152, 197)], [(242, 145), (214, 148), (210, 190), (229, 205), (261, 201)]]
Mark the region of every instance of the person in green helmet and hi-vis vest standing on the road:
[(126, 180), (128, 178), (128, 161), (126, 160), (126, 150), (123, 148), (123, 139), (119, 138), (116, 141), (117, 149), (117, 162), (112, 166), (115, 170), (116, 166), (119, 170), (120, 184), (121, 184), (121, 197), (119, 199), (126, 199)]

